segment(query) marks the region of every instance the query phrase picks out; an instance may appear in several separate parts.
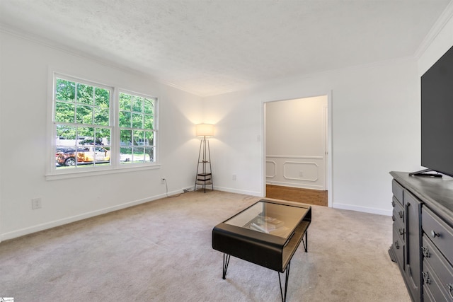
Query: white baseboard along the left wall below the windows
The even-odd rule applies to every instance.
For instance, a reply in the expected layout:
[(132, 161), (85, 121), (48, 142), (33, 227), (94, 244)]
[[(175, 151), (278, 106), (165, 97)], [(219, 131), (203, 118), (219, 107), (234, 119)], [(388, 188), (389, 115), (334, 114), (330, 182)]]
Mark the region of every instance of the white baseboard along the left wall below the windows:
[[(176, 193), (180, 193), (180, 191), (178, 190), (178, 191), (175, 191), (175, 192), (168, 192), (168, 196), (170, 196), (171, 194), (176, 194)], [(166, 197), (166, 194), (159, 194), (159, 195), (156, 195), (156, 196), (153, 196), (153, 197), (147, 197), (147, 198), (144, 198), (144, 199), (134, 200), (132, 202), (126, 202), (124, 204), (117, 204), (116, 206), (113, 206), (113, 207), (108, 207), (108, 208), (104, 208), (104, 209), (98, 209), (96, 211), (91, 211), (91, 212), (88, 212), (88, 213), (79, 214), (79, 215), (75, 215), (75, 216), (70, 216), (70, 217), (66, 217), (64, 219), (58, 219), (58, 220), (55, 220), (55, 221), (49, 221), (49, 222), (41, 223), (41, 224), (38, 224), (38, 225), (35, 225), (35, 226), (30, 226), (28, 228), (21, 228), (20, 230), (8, 232), (8, 233), (3, 233), (3, 234), (0, 234), (0, 243), (1, 243), (1, 241), (4, 241), (4, 240), (18, 238), (18, 237), (25, 236), (25, 235), (28, 235), (28, 234), (31, 234), (31, 233), (44, 231), (44, 230), (47, 230), (48, 228), (55, 228), (55, 226), (62, 226), (62, 225), (67, 224), (67, 223), (80, 221), (80, 220), (83, 220), (83, 219), (87, 219), (87, 218), (91, 218), (91, 217), (94, 217), (94, 216), (106, 214), (106, 213), (109, 213), (109, 212), (112, 212), (112, 211), (117, 211), (117, 210), (120, 210), (120, 209), (125, 209), (125, 208), (128, 208), (128, 207), (133, 207), (133, 206), (136, 206), (138, 204), (144, 204), (144, 203), (147, 203), (147, 202), (152, 202), (152, 201), (154, 201), (156, 199), (161, 199), (161, 198), (164, 198), (164, 197)]]

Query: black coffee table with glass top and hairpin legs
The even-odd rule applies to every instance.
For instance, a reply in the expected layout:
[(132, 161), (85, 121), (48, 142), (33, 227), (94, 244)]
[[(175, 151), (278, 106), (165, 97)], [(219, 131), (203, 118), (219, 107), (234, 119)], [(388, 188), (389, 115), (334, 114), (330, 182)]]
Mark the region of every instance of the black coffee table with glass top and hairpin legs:
[[(212, 230), (212, 248), (224, 253), (222, 278), (230, 256), (277, 271), (282, 301), (286, 301), (289, 267), (299, 244), (308, 250), (307, 230), (311, 207), (296, 202), (261, 199), (247, 209), (217, 224)], [(285, 292), (280, 273), (286, 271)]]

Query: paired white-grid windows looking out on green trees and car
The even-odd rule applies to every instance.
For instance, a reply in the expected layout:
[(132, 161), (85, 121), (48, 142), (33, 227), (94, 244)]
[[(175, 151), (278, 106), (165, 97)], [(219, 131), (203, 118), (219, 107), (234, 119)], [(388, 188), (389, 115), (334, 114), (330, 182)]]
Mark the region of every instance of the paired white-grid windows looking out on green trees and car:
[(114, 87), (58, 74), (54, 83), (55, 171), (155, 162), (156, 98), (126, 91), (115, 97)]

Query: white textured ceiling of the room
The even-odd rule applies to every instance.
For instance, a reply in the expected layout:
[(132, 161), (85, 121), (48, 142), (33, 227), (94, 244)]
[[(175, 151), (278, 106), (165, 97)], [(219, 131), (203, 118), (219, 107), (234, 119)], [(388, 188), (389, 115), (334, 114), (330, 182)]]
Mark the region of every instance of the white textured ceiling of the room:
[(206, 96), (412, 57), (449, 2), (0, 0), (0, 25)]

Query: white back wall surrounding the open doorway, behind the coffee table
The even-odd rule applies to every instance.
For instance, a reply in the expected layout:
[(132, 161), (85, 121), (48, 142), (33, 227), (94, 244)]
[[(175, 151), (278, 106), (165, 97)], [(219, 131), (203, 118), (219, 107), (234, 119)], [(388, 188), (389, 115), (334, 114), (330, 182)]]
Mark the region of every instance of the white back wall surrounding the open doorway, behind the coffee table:
[(389, 171), (420, 168), (418, 91), (415, 60), (401, 59), (206, 98), (219, 132), (214, 186), (264, 196), (263, 102), (332, 92), (333, 207), (390, 215)]

